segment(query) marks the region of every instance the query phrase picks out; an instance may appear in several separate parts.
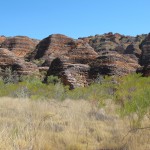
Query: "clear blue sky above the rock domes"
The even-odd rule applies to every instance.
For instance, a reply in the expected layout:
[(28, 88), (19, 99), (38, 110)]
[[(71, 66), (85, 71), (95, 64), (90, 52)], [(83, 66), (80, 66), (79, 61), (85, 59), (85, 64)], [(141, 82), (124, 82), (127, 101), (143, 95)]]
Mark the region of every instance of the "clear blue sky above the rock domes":
[(2, 0), (0, 35), (43, 39), (150, 32), (150, 0)]

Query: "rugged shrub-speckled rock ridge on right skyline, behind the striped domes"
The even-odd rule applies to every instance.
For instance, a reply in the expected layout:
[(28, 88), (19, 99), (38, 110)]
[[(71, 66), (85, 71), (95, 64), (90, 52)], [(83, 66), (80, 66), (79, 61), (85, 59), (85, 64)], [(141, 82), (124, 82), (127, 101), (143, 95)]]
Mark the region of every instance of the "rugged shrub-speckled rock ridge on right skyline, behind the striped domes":
[(136, 37), (124, 36), (121, 34), (107, 33), (103, 35), (95, 35), (86, 38), (80, 38), (88, 42), (97, 53), (103, 51), (114, 50), (120, 54), (134, 54), (137, 58), (141, 55), (140, 43), (146, 35), (138, 35)]

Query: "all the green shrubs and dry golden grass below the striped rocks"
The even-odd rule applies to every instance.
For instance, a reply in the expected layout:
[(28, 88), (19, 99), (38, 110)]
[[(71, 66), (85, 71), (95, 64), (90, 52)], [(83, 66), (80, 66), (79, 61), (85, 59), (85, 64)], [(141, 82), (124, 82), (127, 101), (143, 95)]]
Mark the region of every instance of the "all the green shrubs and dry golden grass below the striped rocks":
[(69, 90), (55, 76), (44, 84), (9, 69), (5, 73), (0, 80), (1, 149), (150, 149), (149, 77), (98, 77), (87, 87)]

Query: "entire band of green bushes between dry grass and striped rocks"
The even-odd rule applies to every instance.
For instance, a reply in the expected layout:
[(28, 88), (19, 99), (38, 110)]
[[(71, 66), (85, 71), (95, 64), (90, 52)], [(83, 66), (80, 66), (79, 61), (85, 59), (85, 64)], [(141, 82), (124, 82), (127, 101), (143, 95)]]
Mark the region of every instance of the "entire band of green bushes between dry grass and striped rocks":
[[(105, 99), (115, 99), (122, 116), (131, 116), (134, 123), (140, 122), (150, 112), (150, 78), (141, 74), (130, 74), (124, 77), (100, 77), (87, 87), (69, 90), (58, 77), (49, 76), (48, 84), (34, 76), (19, 78), (14, 82), (14, 73), (6, 70), (6, 78), (0, 80), (0, 97), (30, 98), (32, 100), (48, 99), (85, 99), (96, 101), (98, 106), (105, 105)], [(97, 82), (98, 81), (98, 82)], [(133, 116), (137, 117), (133, 117)], [(136, 120), (135, 120), (136, 118)]]

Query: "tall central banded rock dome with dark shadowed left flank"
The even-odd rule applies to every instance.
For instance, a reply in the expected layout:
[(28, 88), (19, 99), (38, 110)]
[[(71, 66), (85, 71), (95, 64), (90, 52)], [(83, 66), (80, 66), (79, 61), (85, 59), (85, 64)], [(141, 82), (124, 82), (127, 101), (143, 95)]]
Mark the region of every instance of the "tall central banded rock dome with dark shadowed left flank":
[(85, 64), (95, 59), (97, 53), (83, 40), (74, 40), (61, 34), (43, 39), (31, 54), (30, 60), (44, 60), (41, 66), (49, 66), (55, 58), (68, 59), (72, 63)]

